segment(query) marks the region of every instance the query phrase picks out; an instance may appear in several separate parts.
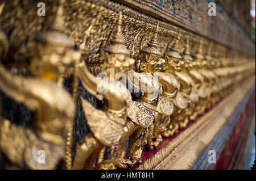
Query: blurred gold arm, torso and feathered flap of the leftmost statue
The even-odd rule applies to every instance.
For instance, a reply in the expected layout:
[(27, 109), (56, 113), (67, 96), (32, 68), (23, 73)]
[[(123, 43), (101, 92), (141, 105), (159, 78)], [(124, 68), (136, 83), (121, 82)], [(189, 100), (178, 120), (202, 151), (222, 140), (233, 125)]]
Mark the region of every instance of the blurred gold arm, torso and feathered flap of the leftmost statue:
[[(52, 81), (14, 75), (0, 65), (0, 89), (35, 112), (34, 129), (4, 120), (1, 123), (3, 153), (22, 168), (55, 169), (65, 154), (65, 138), (75, 105), (71, 95)], [(65, 98), (65, 99), (63, 99)], [(40, 166), (31, 161), (32, 149), (46, 151), (47, 161)], [(15, 154), (15, 155), (14, 155)]]

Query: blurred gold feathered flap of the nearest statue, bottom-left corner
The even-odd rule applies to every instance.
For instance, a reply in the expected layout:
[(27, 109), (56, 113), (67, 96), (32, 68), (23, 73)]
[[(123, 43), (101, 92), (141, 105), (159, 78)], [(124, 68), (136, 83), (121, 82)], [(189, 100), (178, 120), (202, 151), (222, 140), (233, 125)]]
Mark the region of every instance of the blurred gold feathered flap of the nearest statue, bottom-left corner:
[[(0, 125), (1, 151), (11, 162), (27, 169), (55, 169), (64, 157), (64, 142), (43, 141), (28, 128), (3, 120)], [(42, 164), (43, 163), (43, 164)]]

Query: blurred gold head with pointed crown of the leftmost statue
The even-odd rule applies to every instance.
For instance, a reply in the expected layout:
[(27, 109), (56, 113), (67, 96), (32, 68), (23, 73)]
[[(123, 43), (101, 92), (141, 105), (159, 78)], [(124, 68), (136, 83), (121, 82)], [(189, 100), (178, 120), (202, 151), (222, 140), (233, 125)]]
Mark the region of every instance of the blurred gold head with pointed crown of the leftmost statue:
[(72, 74), (74, 63), (80, 60), (81, 53), (73, 50), (73, 42), (65, 33), (63, 11), (64, 0), (60, 0), (56, 16), (46, 30), (36, 33), (34, 41), (28, 43), (28, 49), (35, 48), (30, 51), (30, 71), (34, 75), (57, 80), (61, 75)]

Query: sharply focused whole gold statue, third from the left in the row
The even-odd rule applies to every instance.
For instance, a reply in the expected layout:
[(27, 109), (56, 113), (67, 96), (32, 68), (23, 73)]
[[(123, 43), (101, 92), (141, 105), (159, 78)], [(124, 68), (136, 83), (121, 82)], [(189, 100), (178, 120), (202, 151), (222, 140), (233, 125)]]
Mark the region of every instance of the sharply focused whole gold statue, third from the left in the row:
[[(125, 144), (125, 136), (129, 136), (129, 148), (126, 154), (127, 159), (122, 160), (122, 162), (119, 163), (118, 167), (121, 168), (133, 166), (141, 161), (142, 150), (147, 142), (148, 127), (152, 126), (154, 123), (158, 99), (163, 92), (162, 86), (152, 74), (161, 69), (161, 65), (165, 62), (161, 58), (162, 53), (158, 49), (158, 26), (159, 23), (157, 23), (155, 31), (151, 37), (151, 40), (147, 43), (147, 46), (144, 48), (141, 47), (140, 49), (137, 70), (139, 69), (139, 71), (142, 72), (133, 72), (127, 76), (129, 88), (132, 87), (138, 91), (139, 94), (137, 95), (139, 95), (139, 98), (131, 104), (128, 111), (129, 118), (135, 124), (127, 124), (126, 129), (129, 126), (131, 129), (127, 129), (128, 132), (126, 132), (126, 134), (122, 137), (123, 139), (121, 138), (122, 141), (119, 142), (119, 145), (122, 144), (120, 146), (122, 149), (123, 145)], [(143, 37), (144, 36), (142, 36), (142, 39)], [(147, 112), (145, 111), (146, 109), (148, 109)], [(148, 117), (146, 118), (146, 116)], [(152, 129), (150, 133), (152, 133)]]

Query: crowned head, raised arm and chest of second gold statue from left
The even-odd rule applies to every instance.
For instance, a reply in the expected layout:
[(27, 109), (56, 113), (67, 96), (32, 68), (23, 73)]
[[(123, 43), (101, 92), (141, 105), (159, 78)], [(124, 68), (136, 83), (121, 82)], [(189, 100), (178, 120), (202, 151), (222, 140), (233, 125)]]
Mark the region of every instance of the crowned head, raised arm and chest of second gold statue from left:
[[(132, 64), (130, 51), (123, 47), (122, 37), (121, 37), (121, 26), (122, 26), (122, 14), (121, 12), (118, 15), (117, 22), (117, 31), (115, 32), (113, 39), (110, 40), (110, 44), (102, 48), (101, 56), (104, 58), (104, 70), (108, 72), (110, 68), (117, 68), (117, 70), (123, 70), (124, 62), (119, 62), (119, 56), (121, 59), (123, 56), (126, 57), (126, 60), (129, 60), (129, 63)], [(79, 46), (82, 52), (82, 59), (85, 59), (88, 54), (88, 48), (86, 47), (86, 37), (89, 35), (92, 26), (88, 27), (88, 30), (85, 32), (84, 41)], [(81, 60), (84, 61), (84, 60)], [(115, 64), (113, 64), (115, 62)], [(127, 62), (126, 62), (127, 63)], [(114, 66), (114, 67), (112, 67)], [(128, 66), (128, 65), (127, 65)], [(81, 62), (78, 66), (78, 74), (82, 85), (86, 90), (96, 96), (99, 100), (105, 100), (108, 104), (107, 109), (112, 111), (121, 111), (130, 105), (130, 93), (127, 91), (125, 85), (116, 86), (116, 82), (113, 77), (110, 77), (109, 74), (101, 74), (102, 77), (97, 78), (92, 75), (86, 68), (85, 62)], [(102, 80), (103, 78), (103, 80)]]

